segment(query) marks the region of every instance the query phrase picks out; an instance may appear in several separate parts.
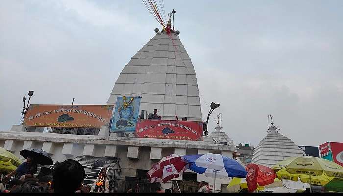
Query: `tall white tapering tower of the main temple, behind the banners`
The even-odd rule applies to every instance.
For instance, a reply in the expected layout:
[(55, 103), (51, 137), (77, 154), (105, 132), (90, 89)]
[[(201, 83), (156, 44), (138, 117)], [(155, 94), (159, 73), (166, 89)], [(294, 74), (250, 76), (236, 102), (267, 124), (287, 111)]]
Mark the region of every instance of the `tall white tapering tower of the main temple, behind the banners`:
[(114, 84), (107, 104), (118, 96), (141, 96), (140, 110), (158, 110), (162, 119), (186, 116), (201, 121), (196, 72), (173, 31), (157, 33), (128, 62)]

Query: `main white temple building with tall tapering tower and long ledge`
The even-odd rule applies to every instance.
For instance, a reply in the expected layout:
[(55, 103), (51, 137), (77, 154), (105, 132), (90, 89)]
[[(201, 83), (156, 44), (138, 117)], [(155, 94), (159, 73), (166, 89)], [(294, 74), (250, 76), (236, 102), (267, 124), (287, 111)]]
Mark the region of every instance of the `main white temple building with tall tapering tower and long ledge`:
[[(171, 26), (170, 23), (167, 25)], [(145, 114), (140, 115), (140, 119), (147, 119), (147, 113), (156, 108), (162, 120), (176, 120), (175, 116), (178, 116), (180, 120), (187, 117), (187, 122), (202, 122), (193, 64), (179, 40), (179, 31), (166, 30), (159, 32), (155, 29), (154, 37), (125, 65), (106, 104), (115, 106), (118, 96), (139, 96), (140, 111)], [(23, 123), (1, 132), (0, 147), (18, 157), (21, 157), (19, 151), (22, 149), (39, 148), (48, 152), (54, 162), (75, 159), (85, 167), (87, 177), (84, 183), (90, 186), (101, 168), (107, 167), (111, 192), (126, 192), (129, 186), (137, 183), (140, 183), (142, 192), (151, 191), (156, 184), (147, 180), (147, 171), (162, 157), (173, 153), (216, 153), (233, 157), (235, 151), (233, 141), (221, 131), (221, 127), (216, 127), (209, 137), (203, 136), (202, 128), (199, 128), (201, 132), (196, 140), (174, 140), (110, 134), (110, 126), (111, 121), (104, 121), (101, 127), (95, 128), (41, 127)], [(214, 187), (213, 178), (189, 170), (178, 180), (182, 180), (180, 186), (189, 191), (197, 189), (196, 182), (203, 180), (209, 182), (211, 188)], [(217, 179), (216, 192), (226, 190), (227, 184), (228, 179)], [(172, 189), (173, 182), (161, 186)]]

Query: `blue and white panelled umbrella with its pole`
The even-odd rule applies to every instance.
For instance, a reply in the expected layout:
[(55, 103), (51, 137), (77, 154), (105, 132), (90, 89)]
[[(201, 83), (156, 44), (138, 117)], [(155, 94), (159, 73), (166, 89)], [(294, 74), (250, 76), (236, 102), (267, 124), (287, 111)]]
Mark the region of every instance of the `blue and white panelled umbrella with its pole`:
[(221, 154), (197, 154), (182, 156), (188, 164), (188, 169), (214, 177), (214, 190), (216, 188), (216, 177), (227, 179), (228, 177), (246, 177), (246, 170), (235, 159)]

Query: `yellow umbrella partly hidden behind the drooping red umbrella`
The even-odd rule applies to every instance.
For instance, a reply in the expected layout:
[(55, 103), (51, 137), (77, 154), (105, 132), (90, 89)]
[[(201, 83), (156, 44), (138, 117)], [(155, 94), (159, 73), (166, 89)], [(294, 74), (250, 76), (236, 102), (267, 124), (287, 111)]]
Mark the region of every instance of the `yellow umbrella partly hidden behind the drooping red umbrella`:
[[(281, 182), (281, 180), (275, 178), (274, 183), (266, 185), (266, 186), (260, 186), (257, 183), (257, 189), (256, 190), (262, 191), (268, 187), (278, 187), (278, 186), (282, 186), (282, 182)], [(245, 178), (233, 178), (231, 180), (231, 182), (229, 183), (229, 185), (227, 185), (226, 190), (228, 192), (233, 193), (233, 192), (239, 191), (240, 189), (247, 189), (247, 188), (248, 188), (248, 185), (246, 183)]]

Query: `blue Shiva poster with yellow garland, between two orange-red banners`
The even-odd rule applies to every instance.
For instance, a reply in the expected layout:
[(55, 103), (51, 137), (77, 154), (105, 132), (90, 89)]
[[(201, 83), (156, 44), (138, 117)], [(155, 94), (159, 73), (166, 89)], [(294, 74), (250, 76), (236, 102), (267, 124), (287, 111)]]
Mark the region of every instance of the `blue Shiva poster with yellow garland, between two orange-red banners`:
[(141, 97), (117, 97), (111, 132), (135, 133)]

